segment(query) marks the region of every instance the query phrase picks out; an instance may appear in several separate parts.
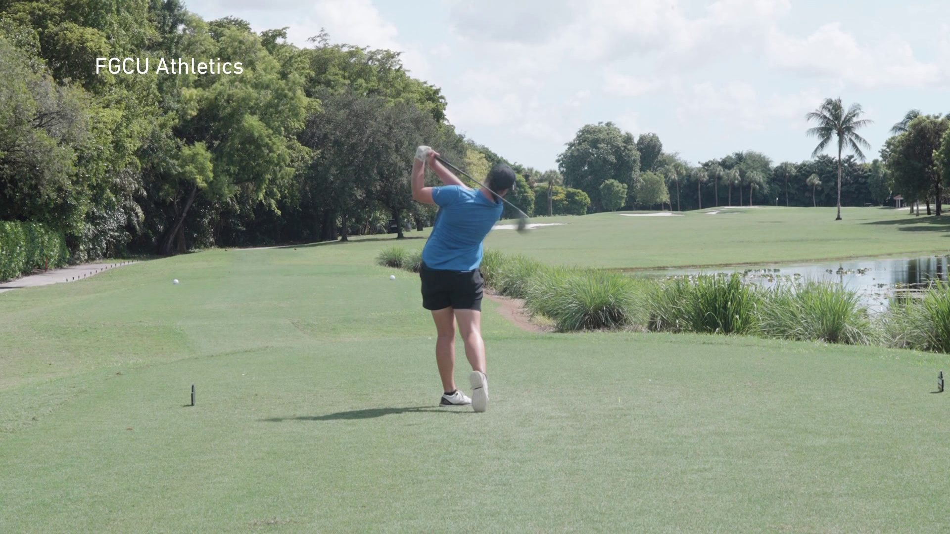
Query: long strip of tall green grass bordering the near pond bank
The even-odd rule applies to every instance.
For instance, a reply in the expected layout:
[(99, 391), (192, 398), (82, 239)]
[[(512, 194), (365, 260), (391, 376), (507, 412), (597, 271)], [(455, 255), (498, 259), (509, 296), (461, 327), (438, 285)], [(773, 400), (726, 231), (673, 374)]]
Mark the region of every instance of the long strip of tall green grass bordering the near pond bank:
[[(418, 272), (421, 251), (389, 247), (380, 265)], [(950, 285), (937, 282), (920, 298), (893, 300), (870, 315), (857, 293), (826, 281), (755, 288), (738, 275), (631, 277), (617, 271), (545, 265), (486, 250), (485, 286), (523, 298), (532, 315), (558, 332), (618, 330), (761, 337), (880, 345), (950, 353)]]

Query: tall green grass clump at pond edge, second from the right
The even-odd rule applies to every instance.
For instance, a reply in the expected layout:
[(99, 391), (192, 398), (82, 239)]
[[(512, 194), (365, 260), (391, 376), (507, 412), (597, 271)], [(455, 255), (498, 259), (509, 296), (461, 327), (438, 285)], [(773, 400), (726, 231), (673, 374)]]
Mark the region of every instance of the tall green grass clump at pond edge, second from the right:
[(760, 334), (786, 339), (868, 345), (878, 328), (857, 292), (833, 282), (778, 285), (758, 307)]

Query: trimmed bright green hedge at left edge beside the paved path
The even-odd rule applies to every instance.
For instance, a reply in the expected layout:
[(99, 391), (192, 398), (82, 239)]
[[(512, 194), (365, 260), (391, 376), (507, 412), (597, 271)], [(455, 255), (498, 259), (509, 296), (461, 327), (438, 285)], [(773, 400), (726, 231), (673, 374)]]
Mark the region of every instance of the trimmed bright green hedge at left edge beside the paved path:
[(39, 222), (0, 220), (0, 280), (28, 275), (33, 269), (66, 265), (66, 237)]

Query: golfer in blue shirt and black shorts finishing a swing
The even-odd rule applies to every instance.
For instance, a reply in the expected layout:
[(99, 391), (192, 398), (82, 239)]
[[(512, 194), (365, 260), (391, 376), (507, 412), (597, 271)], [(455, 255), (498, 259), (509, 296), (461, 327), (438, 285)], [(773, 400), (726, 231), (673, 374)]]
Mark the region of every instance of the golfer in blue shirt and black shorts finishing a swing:
[[(485, 375), (485, 342), (482, 341), (482, 240), (502, 217), (500, 197), (514, 188), (511, 167), (496, 164), (485, 187), (472, 189), (435, 159), (428, 146), (416, 149), (412, 163), (412, 198), (437, 204), (439, 212), (432, 234), (422, 251), (422, 305), (432, 313), (435, 330), (435, 361), (442, 377), (440, 406), (472, 405), (472, 410), (488, 408), (488, 377)], [(426, 187), (426, 164), (446, 184)], [(469, 398), (455, 388), (455, 323), (466, 344), (472, 366), (468, 381)]]

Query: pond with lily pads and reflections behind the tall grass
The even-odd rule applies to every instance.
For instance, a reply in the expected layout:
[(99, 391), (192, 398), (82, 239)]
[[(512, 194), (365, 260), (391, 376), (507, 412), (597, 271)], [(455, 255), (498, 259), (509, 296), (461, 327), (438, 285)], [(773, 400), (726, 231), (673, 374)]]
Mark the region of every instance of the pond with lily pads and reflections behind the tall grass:
[(912, 296), (933, 280), (947, 281), (950, 256), (847, 259), (814, 263), (763, 264), (707, 269), (668, 269), (650, 275), (739, 273), (753, 284), (773, 287), (782, 280), (828, 280), (858, 292), (871, 312), (882, 312), (890, 297)]

